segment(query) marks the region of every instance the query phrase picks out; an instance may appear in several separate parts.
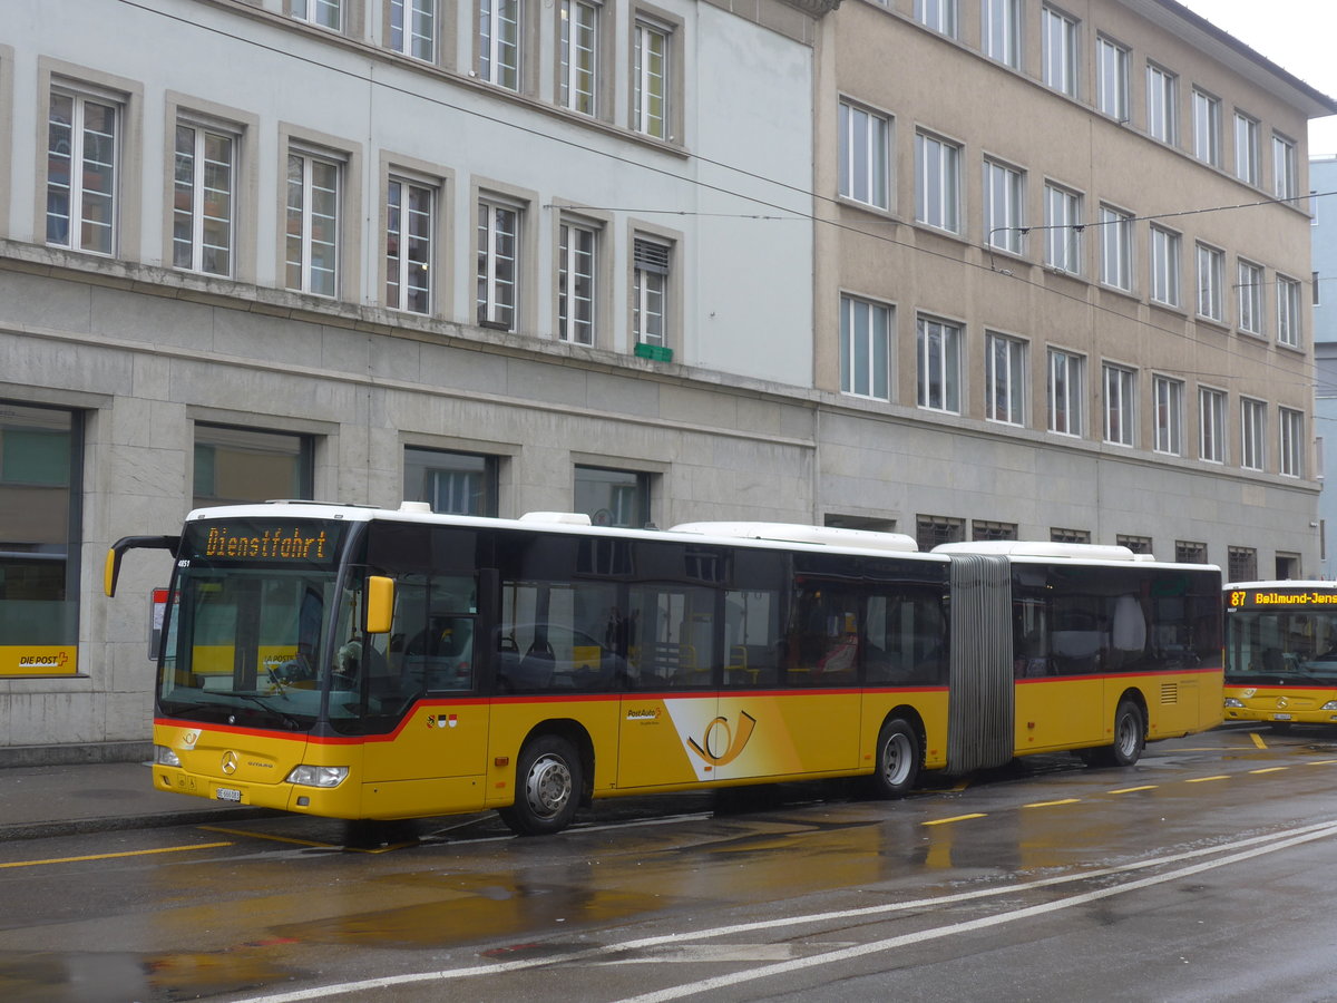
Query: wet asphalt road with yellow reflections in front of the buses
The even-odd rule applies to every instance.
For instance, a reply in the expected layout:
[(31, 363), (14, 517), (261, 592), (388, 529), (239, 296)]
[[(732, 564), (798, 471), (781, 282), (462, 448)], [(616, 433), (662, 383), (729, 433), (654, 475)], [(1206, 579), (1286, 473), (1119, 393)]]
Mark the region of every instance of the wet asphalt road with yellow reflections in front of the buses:
[(0, 844), (16, 1000), (1337, 1000), (1337, 732), (900, 802), (602, 802), (558, 837), (306, 818)]

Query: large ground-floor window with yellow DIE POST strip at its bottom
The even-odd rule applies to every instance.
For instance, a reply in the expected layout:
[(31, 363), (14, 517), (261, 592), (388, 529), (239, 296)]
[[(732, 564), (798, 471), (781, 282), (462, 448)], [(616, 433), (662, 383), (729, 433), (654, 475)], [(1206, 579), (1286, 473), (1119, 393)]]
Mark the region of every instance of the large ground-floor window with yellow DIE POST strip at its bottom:
[(0, 677), (78, 673), (82, 441), (76, 412), (0, 405)]

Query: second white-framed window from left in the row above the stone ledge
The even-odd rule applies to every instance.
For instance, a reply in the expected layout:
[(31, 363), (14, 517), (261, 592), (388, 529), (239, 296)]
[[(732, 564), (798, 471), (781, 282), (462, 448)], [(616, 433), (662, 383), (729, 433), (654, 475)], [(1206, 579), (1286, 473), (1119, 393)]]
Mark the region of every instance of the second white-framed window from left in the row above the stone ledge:
[(229, 132), (176, 124), (172, 265), (178, 269), (233, 274), (235, 148)]

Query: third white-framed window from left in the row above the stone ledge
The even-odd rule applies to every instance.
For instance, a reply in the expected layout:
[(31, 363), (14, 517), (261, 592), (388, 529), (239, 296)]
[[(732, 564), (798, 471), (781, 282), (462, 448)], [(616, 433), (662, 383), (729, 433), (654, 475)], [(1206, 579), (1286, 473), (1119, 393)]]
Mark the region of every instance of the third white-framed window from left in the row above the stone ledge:
[(341, 164), (308, 152), (287, 155), (289, 289), (338, 293)]

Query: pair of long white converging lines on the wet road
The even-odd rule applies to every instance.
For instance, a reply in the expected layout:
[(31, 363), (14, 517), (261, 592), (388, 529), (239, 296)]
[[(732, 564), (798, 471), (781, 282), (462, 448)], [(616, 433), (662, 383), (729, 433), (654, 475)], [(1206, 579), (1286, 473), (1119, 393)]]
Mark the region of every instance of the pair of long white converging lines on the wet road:
[(540, 968), (555, 964), (571, 964), (572, 962), (600, 960), (607, 958), (608, 955), (623, 954), (627, 951), (643, 951), (647, 948), (659, 947), (662, 944), (707, 940), (713, 937), (733, 936), (735, 933), (753, 933), (758, 929), (773, 931), (773, 929), (782, 929), (786, 927), (797, 927), (797, 925), (817, 924), (817, 923), (842, 923), (852, 919), (888, 915), (893, 912), (923, 911), (923, 909), (949, 905), (952, 903), (959, 903), (959, 901), (973, 901), (976, 899), (988, 899), (997, 895), (1016, 895), (1017, 892), (1028, 892), (1038, 888), (1048, 888), (1054, 885), (1070, 884), (1072, 881), (1090, 881), (1094, 879), (1108, 877), (1111, 875), (1131, 873), (1152, 867), (1163, 867), (1167, 864), (1179, 864), (1186, 860), (1195, 860), (1198, 857), (1205, 857), (1213, 853), (1230, 852), (1230, 856), (1221, 857), (1218, 860), (1202, 861), (1199, 864), (1193, 864), (1187, 868), (1181, 868), (1179, 871), (1166, 872), (1165, 875), (1146, 877), (1127, 884), (1111, 885), (1108, 888), (1103, 888), (1095, 892), (1075, 895), (1068, 899), (1059, 899), (1047, 903), (1044, 905), (1032, 905), (1008, 913), (996, 913), (985, 919), (971, 920), (968, 923), (959, 923), (953, 924), (952, 927), (939, 927), (937, 929), (923, 931), (920, 933), (894, 937), (892, 940), (882, 940), (877, 941), (876, 944), (865, 944), (861, 947), (848, 948), (842, 951), (829, 951), (826, 954), (816, 955), (802, 962), (794, 962), (787, 967), (771, 966), (767, 968), (757, 968), (750, 972), (737, 972), (731, 976), (723, 976), (726, 982), (719, 982), (718, 979), (713, 979), (707, 982), (691, 983), (687, 986), (675, 986), (662, 992), (648, 994), (646, 996), (636, 996), (632, 1000), (623, 1000), (623, 1003), (654, 1003), (655, 1000), (667, 1000), (667, 999), (677, 999), (679, 996), (690, 996), (697, 992), (702, 992), (707, 988), (717, 988), (719, 986), (769, 978), (771, 975), (781, 975), (785, 971), (793, 971), (798, 967), (830, 964), (834, 962), (846, 960), (848, 958), (852, 956), (857, 956), (857, 954), (873, 954), (876, 951), (886, 951), (890, 950), (892, 947), (901, 947), (906, 943), (916, 943), (919, 940), (928, 940), (933, 937), (947, 936), (948, 933), (965, 932), (968, 929), (979, 929), (987, 925), (996, 925), (999, 923), (1008, 923), (1017, 919), (1027, 919), (1029, 916), (1038, 915), (1039, 912), (1052, 912), (1055, 909), (1063, 909), (1063, 908), (1070, 908), (1072, 905), (1080, 905), (1090, 901), (1096, 901), (1099, 899), (1110, 897), (1111, 895), (1119, 895), (1122, 892), (1135, 891), (1138, 888), (1150, 887), (1152, 884), (1171, 881), (1178, 877), (1187, 877), (1201, 871), (1209, 871), (1215, 867), (1226, 867), (1229, 864), (1239, 863), (1241, 860), (1247, 860), (1249, 857), (1261, 856), (1263, 853), (1273, 853), (1280, 849), (1288, 849), (1290, 847), (1296, 847), (1302, 843), (1309, 843), (1310, 840), (1324, 839), (1326, 836), (1333, 836), (1333, 834), (1337, 834), (1337, 821), (1316, 822), (1313, 825), (1305, 825), (1298, 829), (1294, 829), (1289, 834), (1282, 833), (1282, 834), (1269, 834), (1269, 836), (1250, 836), (1249, 839), (1237, 840), (1234, 843), (1227, 843), (1219, 847), (1199, 847), (1197, 849), (1183, 851), (1182, 853), (1171, 853), (1165, 857), (1152, 857), (1151, 860), (1135, 861), (1132, 864), (1119, 864), (1116, 867), (1098, 868), (1094, 871), (1084, 871), (1076, 875), (1059, 875), (1055, 877), (1042, 877), (1036, 879), (1035, 881), (1004, 884), (996, 888), (979, 888), (968, 892), (955, 892), (952, 895), (943, 895), (936, 899), (916, 899), (901, 903), (886, 903), (884, 905), (865, 905), (857, 909), (841, 909), (837, 912), (817, 912), (806, 916), (785, 916), (773, 920), (759, 920), (757, 923), (737, 923), (729, 927), (698, 929), (690, 935), (663, 933), (659, 936), (643, 937), (640, 940), (628, 940), (620, 944), (604, 944), (602, 947), (591, 947), (583, 951), (572, 951), (571, 954), (564, 954), (560, 956), (532, 958), (517, 962), (501, 962), (497, 964), (477, 964), (469, 968), (451, 968), (435, 972), (410, 972), (405, 975), (386, 975), (378, 979), (361, 979), (358, 982), (341, 982), (326, 986), (314, 986), (306, 990), (278, 992), (267, 996), (249, 996), (237, 1000), (237, 1003), (298, 1003), (298, 1000), (328, 999), (330, 996), (345, 995), (350, 992), (386, 990), (394, 986), (410, 986), (427, 982), (452, 982), (456, 979), (469, 979), (473, 976), (496, 979), (497, 975), (504, 975), (505, 972), (523, 971), (527, 968)]

